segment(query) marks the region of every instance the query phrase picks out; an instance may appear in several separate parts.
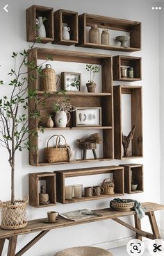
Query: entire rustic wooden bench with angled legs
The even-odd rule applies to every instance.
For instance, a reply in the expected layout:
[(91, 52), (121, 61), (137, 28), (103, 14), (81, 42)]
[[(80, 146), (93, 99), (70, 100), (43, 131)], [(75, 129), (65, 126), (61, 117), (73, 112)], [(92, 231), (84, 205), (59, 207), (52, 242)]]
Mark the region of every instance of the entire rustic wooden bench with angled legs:
[[(100, 209), (95, 211), (97, 213), (102, 213), (103, 216), (94, 216), (90, 219), (85, 219), (83, 221), (78, 221), (78, 222), (67, 221), (65, 219), (58, 219), (56, 223), (44, 223), (43, 221), (44, 219), (35, 219), (33, 221), (28, 221), (28, 225), (26, 226), (26, 228), (22, 228), (20, 230), (0, 229), (0, 256), (2, 254), (3, 245), (6, 239), (9, 240), (8, 256), (21, 256), (24, 253), (26, 253), (26, 251), (29, 248), (31, 248), (34, 244), (36, 244), (42, 237), (44, 237), (44, 235), (47, 234), (47, 232), (49, 232), (50, 230), (54, 230), (56, 228), (64, 228), (71, 225), (79, 225), (79, 224), (90, 223), (95, 221), (103, 221), (107, 219), (112, 219), (113, 221), (120, 223), (120, 225), (124, 225), (126, 228), (133, 230), (134, 232), (136, 232), (136, 238), (138, 239), (142, 239), (142, 237), (147, 237), (149, 239), (161, 238), (159, 234), (158, 226), (156, 223), (156, 217), (154, 215), (154, 211), (163, 210), (164, 205), (159, 205), (157, 203), (142, 203), (142, 206), (145, 207), (145, 213), (149, 217), (152, 233), (141, 230), (140, 219), (138, 219), (138, 216), (136, 215), (135, 211), (132, 210), (129, 212), (116, 212), (114, 210), (106, 208), (106, 209)], [(131, 216), (131, 215), (134, 216), (135, 227), (118, 219), (119, 217)], [(29, 234), (32, 232), (40, 232), (40, 233), (35, 238), (33, 238), (28, 244), (26, 244), (26, 246), (24, 246), (22, 250), (19, 250), (18, 253), (15, 253), (16, 246), (17, 246), (17, 236), (22, 234)]]

